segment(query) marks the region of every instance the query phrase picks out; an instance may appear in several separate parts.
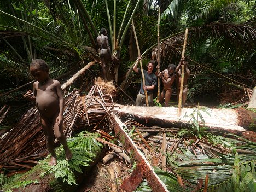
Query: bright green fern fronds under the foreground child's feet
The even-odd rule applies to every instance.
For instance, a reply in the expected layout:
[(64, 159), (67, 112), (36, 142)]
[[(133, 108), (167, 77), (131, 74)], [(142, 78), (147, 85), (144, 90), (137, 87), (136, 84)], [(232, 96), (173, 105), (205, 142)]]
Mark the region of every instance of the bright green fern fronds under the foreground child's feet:
[(69, 185), (77, 184), (74, 172), (82, 173), (81, 167), (89, 166), (89, 163), (102, 148), (102, 145), (95, 140), (96, 137), (98, 137), (97, 133), (83, 131), (77, 137), (67, 139), (73, 155), (71, 160), (66, 161), (63, 147), (61, 147), (56, 150), (57, 165), (50, 166), (48, 161), (40, 161), (43, 170), (45, 170), (40, 175), (45, 176), (45, 174), (54, 173), (56, 178), (62, 178), (63, 183), (67, 182)]

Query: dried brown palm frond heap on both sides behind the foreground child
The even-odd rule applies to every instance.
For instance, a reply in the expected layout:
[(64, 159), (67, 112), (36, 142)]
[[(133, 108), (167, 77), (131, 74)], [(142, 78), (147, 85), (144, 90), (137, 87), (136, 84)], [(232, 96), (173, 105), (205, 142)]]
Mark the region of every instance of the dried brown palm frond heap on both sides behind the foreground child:
[[(105, 114), (108, 107), (113, 106), (113, 98), (109, 93), (106, 94), (106, 87), (95, 84), (86, 96), (80, 95), (78, 90), (65, 96), (63, 133), (67, 138), (74, 131), (91, 130), (95, 126), (109, 129), (104, 126)], [(98, 125), (99, 122), (101, 125)], [(57, 139), (55, 143), (57, 146)], [(25, 172), (48, 155), (36, 107), (22, 116), (18, 124), (0, 140), (0, 145), (0, 169), (7, 175)]]

